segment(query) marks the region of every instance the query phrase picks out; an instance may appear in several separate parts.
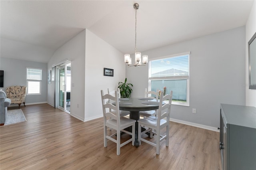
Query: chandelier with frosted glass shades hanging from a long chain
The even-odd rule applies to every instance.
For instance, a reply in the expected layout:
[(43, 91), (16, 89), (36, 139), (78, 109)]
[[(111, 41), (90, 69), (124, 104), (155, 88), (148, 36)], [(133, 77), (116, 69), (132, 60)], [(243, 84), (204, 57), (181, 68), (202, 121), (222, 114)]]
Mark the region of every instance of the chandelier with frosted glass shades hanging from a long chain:
[(136, 48), (136, 40), (137, 40), (137, 10), (139, 9), (139, 4), (135, 3), (133, 4), (133, 8), (135, 9), (135, 63), (132, 64), (132, 59), (130, 58), (130, 54), (125, 54), (124, 55), (124, 62), (126, 63), (126, 65), (128, 65), (129, 67), (135, 66), (135, 67), (139, 67), (140, 65), (146, 65), (146, 63), (148, 63), (148, 55), (143, 55), (142, 56), (142, 63), (141, 63), (141, 53), (137, 52), (137, 48)]

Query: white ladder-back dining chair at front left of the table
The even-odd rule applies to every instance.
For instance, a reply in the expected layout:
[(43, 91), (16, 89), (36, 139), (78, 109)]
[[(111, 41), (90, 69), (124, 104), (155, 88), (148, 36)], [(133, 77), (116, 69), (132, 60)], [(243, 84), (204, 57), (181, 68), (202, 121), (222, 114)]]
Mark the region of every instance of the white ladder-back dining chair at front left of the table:
[[(120, 155), (120, 148), (122, 146), (128, 144), (129, 142), (132, 142), (132, 145), (134, 145), (136, 120), (120, 117), (120, 114), (117, 114), (119, 113), (119, 100), (118, 100), (117, 91), (115, 91), (115, 96), (112, 96), (110, 94), (104, 95), (103, 90), (101, 90), (101, 99), (102, 99), (102, 109), (103, 109), (103, 117), (104, 117), (104, 147), (107, 147), (107, 143), (108, 143), (107, 140), (111, 140), (112, 142), (116, 143), (116, 154)], [(110, 99), (114, 101), (115, 105), (108, 102), (106, 103), (106, 99), (108, 100)], [(107, 127), (115, 129), (116, 133), (109, 136), (107, 133)], [(132, 127), (132, 132), (124, 130), (125, 128), (128, 128), (128, 127)], [(121, 143), (120, 131), (130, 134), (132, 138)]]

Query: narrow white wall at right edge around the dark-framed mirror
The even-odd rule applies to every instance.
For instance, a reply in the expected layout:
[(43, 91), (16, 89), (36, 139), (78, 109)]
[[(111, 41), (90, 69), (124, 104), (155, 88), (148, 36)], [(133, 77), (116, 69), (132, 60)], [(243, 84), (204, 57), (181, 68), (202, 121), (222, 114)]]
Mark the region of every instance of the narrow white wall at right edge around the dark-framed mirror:
[(256, 32), (256, 1), (254, 0), (254, 4), (252, 6), (252, 10), (250, 12), (250, 16), (246, 22), (246, 41), (245, 41), (245, 84), (246, 84), (246, 106), (254, 106), (256, 107), (256, 90), (249, 89), (249, 69), (248, 69), (248, 41), (252, 38), (252, 36)]

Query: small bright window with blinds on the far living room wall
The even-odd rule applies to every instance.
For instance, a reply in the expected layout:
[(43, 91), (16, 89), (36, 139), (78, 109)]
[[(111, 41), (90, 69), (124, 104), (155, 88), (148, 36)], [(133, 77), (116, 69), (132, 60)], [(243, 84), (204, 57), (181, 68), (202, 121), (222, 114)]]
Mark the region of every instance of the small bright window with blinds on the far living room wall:
[(27, 67), (28, 95), (40, 95), (42, 82), (42, 69)]

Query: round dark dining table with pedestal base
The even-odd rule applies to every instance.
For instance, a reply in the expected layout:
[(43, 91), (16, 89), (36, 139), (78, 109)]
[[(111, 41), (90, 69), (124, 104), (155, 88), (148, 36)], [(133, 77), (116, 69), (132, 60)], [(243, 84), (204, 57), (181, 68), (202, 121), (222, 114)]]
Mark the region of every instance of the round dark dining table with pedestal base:
[[(159, 102), (151, 98), (120, 98), (119, 109), (122, 111), (130, 111), (130, 119), (136, 120), (135, 123), (135, 142), (136, 147), (139, 146), (138, 141), (138, 120), (140, 119), (140, 111), (150, 111), (159, 108)], [(144, 129), (145, 130), (145, 129)], [(142, 130), (143, 131), (143, 130)]]

